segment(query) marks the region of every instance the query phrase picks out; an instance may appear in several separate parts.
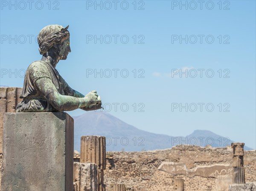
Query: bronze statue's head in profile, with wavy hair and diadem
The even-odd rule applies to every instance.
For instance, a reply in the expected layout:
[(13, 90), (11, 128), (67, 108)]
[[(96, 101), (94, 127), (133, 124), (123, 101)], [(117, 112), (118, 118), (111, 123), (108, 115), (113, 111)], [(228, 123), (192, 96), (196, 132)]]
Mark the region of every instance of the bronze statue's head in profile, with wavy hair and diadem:
[(40, 54), (53, 51), (60, 60), (66, 60), (70, 49), (70, 33), (60, 25), (48, 25), (38, 34), (38, 45)]

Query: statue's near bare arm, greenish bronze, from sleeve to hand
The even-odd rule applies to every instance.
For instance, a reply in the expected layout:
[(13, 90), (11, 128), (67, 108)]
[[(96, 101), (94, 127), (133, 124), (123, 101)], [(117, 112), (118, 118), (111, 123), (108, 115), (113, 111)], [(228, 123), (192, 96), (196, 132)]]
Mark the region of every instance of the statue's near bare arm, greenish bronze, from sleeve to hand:
[(41, 94), (44, 95), (47, 101), (59, 111), (72, 111), (84, 107), (93, 108), (96, 104), (101, 104), (100, 97), (98, 97), (96, 91), (91, 91), (85, 97), (61, 95), (48, 77), (36, 80), (35, 86), (41, 91)]

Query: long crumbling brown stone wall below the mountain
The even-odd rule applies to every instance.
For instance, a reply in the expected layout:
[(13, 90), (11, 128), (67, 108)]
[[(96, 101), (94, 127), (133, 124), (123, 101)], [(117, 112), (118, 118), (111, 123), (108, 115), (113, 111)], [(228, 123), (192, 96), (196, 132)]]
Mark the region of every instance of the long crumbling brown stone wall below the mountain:
[[(184, 191), (228, 191), (233, 149), (177, 145), (145, 152), (108, 152), (104, 181), (126, 190), (170, 191), (184, 180)], [(244, 151), (245, 181), (256, 181), (256, 151)], [(162, 165), (162, 169), (159, 167)], [(165, 165), (165, 166), (163, 166)]]

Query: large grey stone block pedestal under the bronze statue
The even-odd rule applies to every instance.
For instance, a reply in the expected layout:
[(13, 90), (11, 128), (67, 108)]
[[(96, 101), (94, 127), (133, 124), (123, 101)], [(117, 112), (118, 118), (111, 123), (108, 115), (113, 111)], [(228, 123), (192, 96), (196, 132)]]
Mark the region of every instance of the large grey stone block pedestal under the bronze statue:
[(2, 191), (73, 191), (74, 122), (67, 113), (6, 113)]

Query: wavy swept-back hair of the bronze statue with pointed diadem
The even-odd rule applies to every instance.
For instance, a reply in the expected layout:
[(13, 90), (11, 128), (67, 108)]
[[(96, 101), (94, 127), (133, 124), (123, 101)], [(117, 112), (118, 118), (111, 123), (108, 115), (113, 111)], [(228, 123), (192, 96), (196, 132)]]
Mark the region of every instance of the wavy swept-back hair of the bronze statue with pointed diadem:
[(48, 25), (44, 27), (38, 34), (38, 45), (40, 54), (47, 52), (54, 44), (61, 43), (70, 36), (67, 30), (60, 25)]

